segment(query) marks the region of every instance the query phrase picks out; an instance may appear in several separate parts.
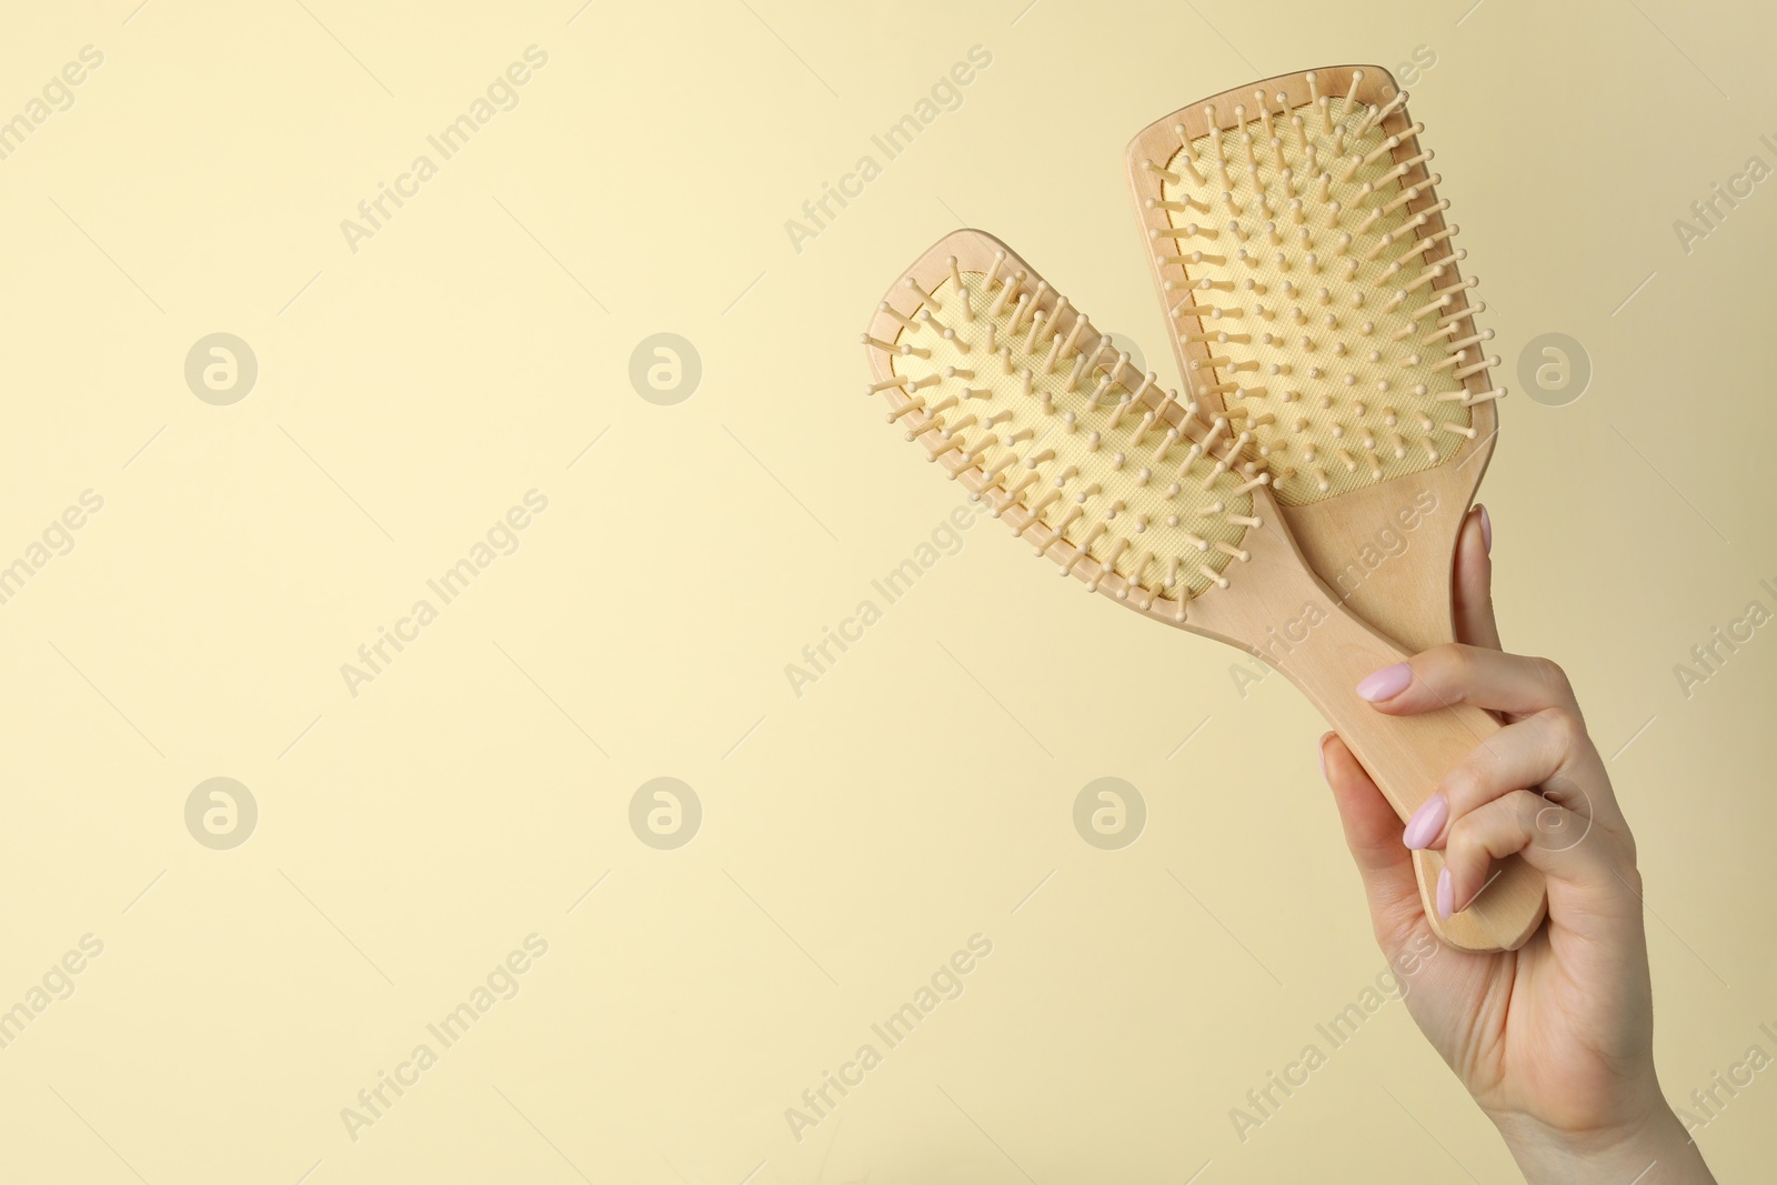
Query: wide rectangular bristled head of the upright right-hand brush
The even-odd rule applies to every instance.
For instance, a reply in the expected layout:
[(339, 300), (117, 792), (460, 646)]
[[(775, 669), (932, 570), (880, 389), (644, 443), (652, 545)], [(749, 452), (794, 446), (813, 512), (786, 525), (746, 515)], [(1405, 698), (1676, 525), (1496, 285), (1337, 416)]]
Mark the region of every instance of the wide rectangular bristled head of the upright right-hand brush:
[(1406, 99), (1386, 71), (1310, 71), (1130, 147), (1189, 398), (1249, 412), (1285, 506), (1452, 460), (1505, 394)]

